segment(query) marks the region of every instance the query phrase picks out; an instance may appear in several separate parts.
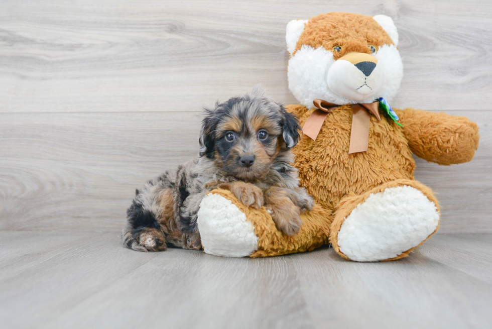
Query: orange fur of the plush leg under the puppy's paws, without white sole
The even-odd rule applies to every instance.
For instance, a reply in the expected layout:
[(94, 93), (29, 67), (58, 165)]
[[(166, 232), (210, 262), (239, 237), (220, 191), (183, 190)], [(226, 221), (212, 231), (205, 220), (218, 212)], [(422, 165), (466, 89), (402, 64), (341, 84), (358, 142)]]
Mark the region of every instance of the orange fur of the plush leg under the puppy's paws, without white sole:
[(330, 212), (319, 205), (312, 211), (301, 214), (303, 226), (295, 236), (289, 237), (275, 227), (272, 216), (265, 207), (254, 209), (239, 201), (232, 192), (215, 189), (212, 193), (219, 194), (235, 204), (246, 214), (248, 221), (253, 223), (258, 237), (258, 250), (250, 257), (266, 257), (311, 251), (328, 244), (332, 216)]

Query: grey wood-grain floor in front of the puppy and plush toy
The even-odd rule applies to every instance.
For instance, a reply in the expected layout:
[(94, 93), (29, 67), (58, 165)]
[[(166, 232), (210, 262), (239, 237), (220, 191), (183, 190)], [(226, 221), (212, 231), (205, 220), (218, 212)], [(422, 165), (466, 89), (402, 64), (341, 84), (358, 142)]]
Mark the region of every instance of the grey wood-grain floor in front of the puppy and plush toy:
[[(406, 259), (355, 263), (332, 249), (235, 259), (181, 249), (138, 253), (122, 248), (116, 233), (0, 232), (0, 323), (489, 328), (490, 241), (491, 235), (440, 235)], [(453, 261), (464, 250), (466, 269)]]

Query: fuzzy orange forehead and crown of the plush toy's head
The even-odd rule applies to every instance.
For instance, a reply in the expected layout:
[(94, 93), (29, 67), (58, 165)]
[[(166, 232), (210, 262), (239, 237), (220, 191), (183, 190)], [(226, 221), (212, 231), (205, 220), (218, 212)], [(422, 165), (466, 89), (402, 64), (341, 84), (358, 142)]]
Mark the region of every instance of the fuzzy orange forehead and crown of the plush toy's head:
[(371, 17), (350, 13), (328, 13), (311, 18), (297, 41), (295, 52), (303, 45), (314, 49), (324, 47), (332, 51), (340, 46), (341, 51), (335, 52), (334, 59), (350, 52), (371, 54), (368, 45), (378, 49), (383, 45), (393, 45), (388, 33)]

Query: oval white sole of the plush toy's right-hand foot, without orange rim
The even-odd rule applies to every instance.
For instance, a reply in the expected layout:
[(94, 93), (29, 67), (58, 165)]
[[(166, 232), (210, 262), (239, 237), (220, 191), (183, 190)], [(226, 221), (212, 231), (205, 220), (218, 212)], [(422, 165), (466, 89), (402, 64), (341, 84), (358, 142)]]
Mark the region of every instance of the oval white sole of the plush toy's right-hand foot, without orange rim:
[(418, 246), (439, 224), (436, 205), (411, 186), (371, 194), (345, 218), (340, 251), (359, 262), (397, 257)]

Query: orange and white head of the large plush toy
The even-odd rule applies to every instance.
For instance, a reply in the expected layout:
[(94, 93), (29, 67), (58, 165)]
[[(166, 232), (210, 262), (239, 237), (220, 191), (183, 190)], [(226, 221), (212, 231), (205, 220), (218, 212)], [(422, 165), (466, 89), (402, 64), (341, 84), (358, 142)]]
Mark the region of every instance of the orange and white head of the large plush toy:
[(400, 87), (403, 64), (398, 32), (388, 16), (318, 15), (287, 25), (289, 88), (299, 102), (334, 104), (390, 100)]

